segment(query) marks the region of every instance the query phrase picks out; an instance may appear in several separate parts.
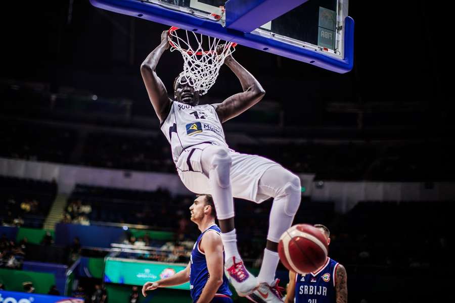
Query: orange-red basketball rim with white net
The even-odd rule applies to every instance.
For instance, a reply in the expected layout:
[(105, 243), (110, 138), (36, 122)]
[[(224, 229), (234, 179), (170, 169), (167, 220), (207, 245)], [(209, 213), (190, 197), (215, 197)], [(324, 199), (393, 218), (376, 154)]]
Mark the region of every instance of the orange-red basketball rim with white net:
[[(180, 30), (180, 36), (177, 30)], [(171, 52), (179, 51), (184, 59), (184, 70), (178, 76), (176, 83), (193, 83), (193, 87), (201, 94), (207, 93), (215, 84), (224, 59), (234, 53), (237, 45), (234, 42), (226, 42), (175, 26), (169, 29), (168, 40)], [(217, 52), (219, 46), (222, 48)], [(186, 80), (183, 80), (184, 77)]]

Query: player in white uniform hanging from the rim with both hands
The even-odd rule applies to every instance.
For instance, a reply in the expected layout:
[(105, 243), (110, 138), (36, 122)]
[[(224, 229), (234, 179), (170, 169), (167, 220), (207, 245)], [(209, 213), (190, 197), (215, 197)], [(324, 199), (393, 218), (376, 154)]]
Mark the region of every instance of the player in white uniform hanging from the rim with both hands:
[[(299, 208), (300, 179), (271, 160), (230, 149), (221, 126), (258, 103), (265, 91), (253, 75), (228, 56), (224, 64), (237, 76), (243, 92), (219, 104), (199, 105), (199, 91), (183, 77), (174, 81), (173, 100), (155, 72), (168, 48), (168, 32), (164, 31), (161, 43), (143, 62), (141, 74), (161, 131), (171, 144), (178, 175), (191, 191), (213, 196), (225, 251), (225, 273), (237, 293), (256, 302), (282, 302), (275, 280), (278, 242)], [(274, 197), (257, 278), (246, 270), (237, 249), (233, 196), (256, 203)]]

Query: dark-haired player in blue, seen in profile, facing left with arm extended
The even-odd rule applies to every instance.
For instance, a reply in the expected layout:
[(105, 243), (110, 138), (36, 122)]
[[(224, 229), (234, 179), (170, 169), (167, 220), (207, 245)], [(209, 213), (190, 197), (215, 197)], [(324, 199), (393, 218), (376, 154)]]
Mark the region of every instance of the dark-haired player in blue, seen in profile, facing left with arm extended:
[(198, 225), (201, 234), (194, 243), (190, 263), (175, 275), (147, 282), (142, 294), (158, 287), (173, 286), (190, 281), (193, 302), (232, 303), (228, 280), (223, 274), (223, 243), (219, 227), (215, 224), (215, 208), (210, 195), (199, 195), (190, 207), (191, 221)]

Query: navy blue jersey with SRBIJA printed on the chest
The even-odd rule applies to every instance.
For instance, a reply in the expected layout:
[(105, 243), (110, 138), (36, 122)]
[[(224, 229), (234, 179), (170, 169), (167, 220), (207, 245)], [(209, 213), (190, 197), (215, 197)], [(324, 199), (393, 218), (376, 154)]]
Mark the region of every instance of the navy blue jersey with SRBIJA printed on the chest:
[(314, 273), (295, 277), (295, 303), (335, 303), (335, 271), (338, 262), (327, 258)]

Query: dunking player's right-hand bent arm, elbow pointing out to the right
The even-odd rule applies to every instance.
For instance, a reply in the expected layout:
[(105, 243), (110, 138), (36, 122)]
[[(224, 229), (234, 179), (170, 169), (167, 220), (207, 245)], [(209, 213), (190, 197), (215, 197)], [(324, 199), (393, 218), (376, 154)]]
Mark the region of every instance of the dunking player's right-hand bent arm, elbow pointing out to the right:
[(224, 64), (227, 65), (239, 78), (243, 92), (236, 93), (225, 99), (222, 103), (213, 104), (221, 123), (228, 121), (242, 114), (250, 107), (255, 105), (265, 95), (265, 90), (261, 84), (238, 63), (231, 55), (226, 57)]

